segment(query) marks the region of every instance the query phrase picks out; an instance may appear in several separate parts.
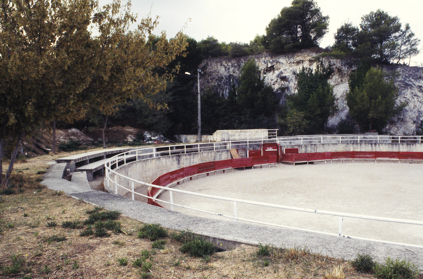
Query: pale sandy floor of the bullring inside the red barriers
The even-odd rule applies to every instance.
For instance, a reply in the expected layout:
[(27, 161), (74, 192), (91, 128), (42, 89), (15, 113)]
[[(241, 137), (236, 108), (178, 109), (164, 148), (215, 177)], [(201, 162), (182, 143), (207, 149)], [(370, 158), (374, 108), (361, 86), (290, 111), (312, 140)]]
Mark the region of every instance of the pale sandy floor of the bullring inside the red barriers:
[[(177, 185), (178, 189), (215, 196), (343, 213), (423, 221), (423, 164), (319, 163), (235, 170)], [(169, 200), (168, 191), (159, 196)], [(233, 202), (173, 193), (173, 202), (233, 215)], [(168, 205), (165, 207), (169, 208)], [(206, 218), (217, 215), (174, 208)], [(338, 216), (237, 204), (240, 218), (338, 233)], [(228, 218), (223, 218), (228, 220)], [(343, 218), (343, 234), (423, 246), (423, 227)]]

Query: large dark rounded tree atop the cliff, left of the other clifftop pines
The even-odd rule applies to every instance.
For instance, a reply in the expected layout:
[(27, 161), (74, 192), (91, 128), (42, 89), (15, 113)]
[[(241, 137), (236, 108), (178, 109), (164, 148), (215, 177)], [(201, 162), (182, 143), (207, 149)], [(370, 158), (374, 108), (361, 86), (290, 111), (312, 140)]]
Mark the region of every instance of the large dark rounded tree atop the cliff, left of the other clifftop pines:
[(266, 27), (266, 48), (280, 52), (317, 46), (328, 26), (329, 16), (313, 0), (294, 0)]

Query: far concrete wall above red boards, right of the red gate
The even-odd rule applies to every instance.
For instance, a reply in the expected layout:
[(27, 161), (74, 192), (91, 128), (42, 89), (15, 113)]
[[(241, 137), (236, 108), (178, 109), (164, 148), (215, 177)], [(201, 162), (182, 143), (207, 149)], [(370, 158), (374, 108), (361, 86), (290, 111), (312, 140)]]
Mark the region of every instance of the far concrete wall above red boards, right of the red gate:
[[(384, 144), (384, 143), (354, 143), (354, 144), (303, 144), (284, 145), (284, 148), (299, 148), (299, 153), (331, 152), (331, 151), (399, 151), (423, 152), (423, 144)], [(317, 150), (317, 151), (316, 151)]]

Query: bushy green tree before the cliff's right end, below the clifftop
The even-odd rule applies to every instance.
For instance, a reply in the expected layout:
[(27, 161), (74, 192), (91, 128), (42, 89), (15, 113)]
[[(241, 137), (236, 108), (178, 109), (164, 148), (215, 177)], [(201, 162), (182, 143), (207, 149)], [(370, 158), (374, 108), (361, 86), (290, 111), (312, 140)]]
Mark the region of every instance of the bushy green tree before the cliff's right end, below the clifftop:
[(361, 86), (350, 90), (346, 96), (349, 114), (362, 130), (377, 130), (386, 126), (387, 121), (401, 112), (405, 103), (396, 105), (398, 89), (393, 80), (385, 81), (387, 74), (379, 67), (370, 68)]

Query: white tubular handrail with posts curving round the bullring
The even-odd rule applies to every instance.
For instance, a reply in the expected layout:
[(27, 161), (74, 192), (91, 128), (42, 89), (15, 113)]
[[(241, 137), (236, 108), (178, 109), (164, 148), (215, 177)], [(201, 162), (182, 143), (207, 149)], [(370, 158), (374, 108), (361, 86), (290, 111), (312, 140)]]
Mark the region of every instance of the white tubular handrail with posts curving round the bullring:
[[(282, 142), (286, 142), (286, 141), (283, 141), (283, 140), (286, 140), (286, 139), (292, 140), (292, 139), (295, 138), (296, 141), (301, 141), (302, 144), (307, 144), (306, 142), (308, 142), (308, 141), (316, 141), (316, 140), (317, 141), (320, 140), (320, 142), (323, 143), (323, 141), (333, 141), (333, 137), (340, 138), (339, 139), (340, 143), (342, 143), (342, 141), (346, 141), (346, 140), (348, 140), (348, 141), (353, 140), (354, 141), (354, 137), (355, 137), (355, 140), (357, 140), (357, 142), (359, 142), (360, 140), (362, 142), (363, 141), (370, 141), (370, 140), (372, 140), (372, 141), (377, 140), (377, 142), (379, 142), (379, 143), (382, 140), (393, 141), (392, 138), (393, 137), (395, 138), (395, 136), (361, 136), (361, 135), (360, 136), (344, 136), (344, 138), (343, 138), (343, 136), (309, 136), (309, 137), (283, 137), (283, 138), (277, 138), (277, 141), (279, 143), (282, 143)], [(360, 137), (363, 137), (363, 138), (360, 138)], [(385, 138), (382, 138), (382, 137), (385, 137)], [(416, 144), (417, 143), (420, 144), (422, 142), (421, 136), (417, 136), (417, 137), (416, 136), (415, 137), (412, 137), (412, 136), (396, 136), (396, 137), (398, 137), (398, 142), (394, 142), (394, 143), (401, 143), (401, 140), (402, 140), (402, 142), (404, 142), (404, 141), (406, 141), (405, 138), (412, 138), (412, 140)], [(346, 139), (346, 138), (348, 138), (348, 139)], [(353, 139), (351, 139), (351, 138), (353, 138)], [(388, 139), (388, 138), (390, 138), (390, 139)], [(270, 141), (270, 140), (274, 140), (274, 139), (266, 139), (265, 141)], [(396, 141), (396, 139), (394, 139), (394, 140)], [(255, 145), (255, 144), (260, 144), (263, 141), (264, 141), (263, 139), (262, 140), (251, 140), (251, 141), (243, 140), (243, 141), (238, 141), (238, 143), (239, 144), (242, 143), (243, 145), (246, 145), (246, 144), (247, 145)], [(410, 141), (410, 139), (408, 139), (408, 141)], [(233, 198), (227, 198), (227, 197), (220, 197), (220, 196), (212, 196), (212, 195), (206, 195), (206, 194), (201, 194), (201, 193), (194, 193), (194, 192), (190, 192), (190, 191), (173, 189), (173, 188), (169, 188), (169, 187), (162, 187), (162, 186), (153, 185), (153, 184), (150, 184), (150, 183), (138, 181), (138, 180), (135, 180), (131, 177), (127, 177), (123, 174), (119, 174), (118, 172), (114, 171), (111, 168), (111, 166), (113, 166), (113, 165), (118, 166), (119, 162), (123, 162), (125, 164), (127, 158), (132, 158), (134, 156), (135, 156), (136, 160), (143, 160), (143, 159), (145, 159), (144, 157), (146, 157), (146, 156), (148, 158), (151, 158), (151, 157), (159, 157), (159, 156), (163, 156), (163, 155), (181, 154), (182, 152), (191, 153), (191, 152), (206, 152), (206, 151), (225, 150), (225, 149), (228, 149), (228, 147), (236, 145), (236, 144), (232, 144), (232, 143), (233, 143), (233, 141), (232, 142), (221, 142), (221, 143), (209, 143), (209, 144), (184, 144), (184, 145), (171, 145), (171, 146), (159, 146), (159, 147), (146, 147), (146, 148), (140, 148), (140, 149), (135, 149), (135, 150), (131, 150), (131, 151), (128, 151), (128, 152), (124, 152), (124, 153), (121, 153), (119, 155), (115, 155), (115, 156), (111, 157), (107, 161), (107, 163), (105, 164), (105, 169), (106, 169), (105, 180), (107, 181), (107, 185), (109, 187), (110, 187), (110, 183), (113, 183), (114, 189), (115, 189), (115, 194), (118, 193), (118, 187), (119, 187), (119, 188), (122, 188), (126, 191), (131, 192), (132, 193), (132, 200), (134, 199), (135, 195), (143, 196), (143, 197), (146, 197), (146, 198), (149, 198), (149, 199), (153, 199), (154, 201), (163, 202), (165, 204), (170, 204), (171, 210), (173, 210), (173, 206), (177, 206), (177, 207), (195, 210), (195, 211), (199, 211), (199, 212), (203, 212), (203, 213), (220, 215), (220, 216), (226, 217), (226, 218), (233, 218), (234, 221), (241, 220), (241, 221), (247, 221), (247, 222), (256, 223), (256, 224), (264, 224), (264, 225), (269, 225), (269, 226), (274, 226), (274, 227), (295, 229), (295, 230), (300, 230), (300, 231), (305, 231), (305, 232), (316, 232), (316, 233), (325, 234), (325, 235), (336, 235), (336, 236), (346, 237), (346, 238), (371, 240), (371, 241), (381, 242), (381, 243), (390, 243), (390, 244), (396, 244), (396, 245), (404, 245), (404, 246), (423, 248), (423, 246), (420, 246), (420, 245), (397, 243), (397, 242), (370, 239), (370, 238), (354, 237), (354, 236), (343, 235), (343, 233), (342, 233), (343, 217), (367, 219), (367, 220), (374, 220), (374, 221), (386, 221), (386, 222), (394, 222), (394, 223), (402, 223), (402, 224), (414, 224), (414, 225), (423, 225), (423, 221), (378, 217), (378, 216), (371, 216), (371, 215), (358, 215), (358, 214), (351, 214), (351, 213), (340, 213), (340, 212), (334, 212), (334, 211), (308, 209), (308, 208), (300, 208), (300, 207), (290, 207), (290, 206), (284, 206), (284, 205), (280, 205), (280, 204), (269, 204), (269, 203), (263, 203), (263, 202), (248, 201), (248, 200), (243, 200), (243, 199), (233, 199)], [(192, 147), (192, 146), (194, 146), (194, 147)], [(148, 149), (153, 149), (153, 151), (152, 152), (145, 152)], [(157, 149), (161, 149), (161, 150), (157, 151)], [(168, 150), (163, 150), (163, 149), (168, 149)], [(139, 157), (142, 157), (142, 158), (139, 159)], [(115, 175), (114, 181), (111, 179), (110, 174)], [(119, 176), (119, 177), (121, 177), (125, 180), (131, 181), (131, 185), (132, 185), (131, 189), (125, 188), (124, 186), (118, 184), (117, 180), (116, 180), (117, 176)], [(137, 183), (139, 185), (145, 185), (145, 186), (148, 186), (148, 187), (155, 187), (155, 188), (170, 191), (170, 201), (168, 202), (168, 201), (160, 200), (158, 198), (148, 197), (147, 195), (135, 192), (134, 191), (134, 184), (135, 183)], [(234, 204), (233, 216), (224, 215), (224, 214), (220, 214), (220, 213), (213, 213), (213, 212), (201, 210), (201, 209), (198, 209), (198, 208), (191, 208), (191, 207), (187, 207), (187, 206), (184, 206), (184, 205), (181, 205), (181, 204), (175, 204), (175, 203), (173, 203), (173, 198), (172, 198), (173, 192), (233, 202), (233, 204)], [(267, 222), (255, 221), (255, 220), (252, 220), (252, 219), (239, 218), (239, 217), (237, 217), (237, 203), (253, 204), (253, 205), (259, 205), (259, 206), (264, 206), (264, 207), (272, 207), (272, 208), (295, 210), (295, 211), (301, 211), (301, 212), (307, 212), (307, 213), (316, 213), (316, 214), (323, 214), (323, 215), (338, 216), (338, 234), (328, 233), (328, 232), (320, 232), (320, 231), (308, 230), (308, 229), (302, 229), (302, 228), (294, 228), (294, 227), (283, 226), (283, 225), (280, 225), (280, 224), (272, 224), (272, 223), (267, 223)]]

